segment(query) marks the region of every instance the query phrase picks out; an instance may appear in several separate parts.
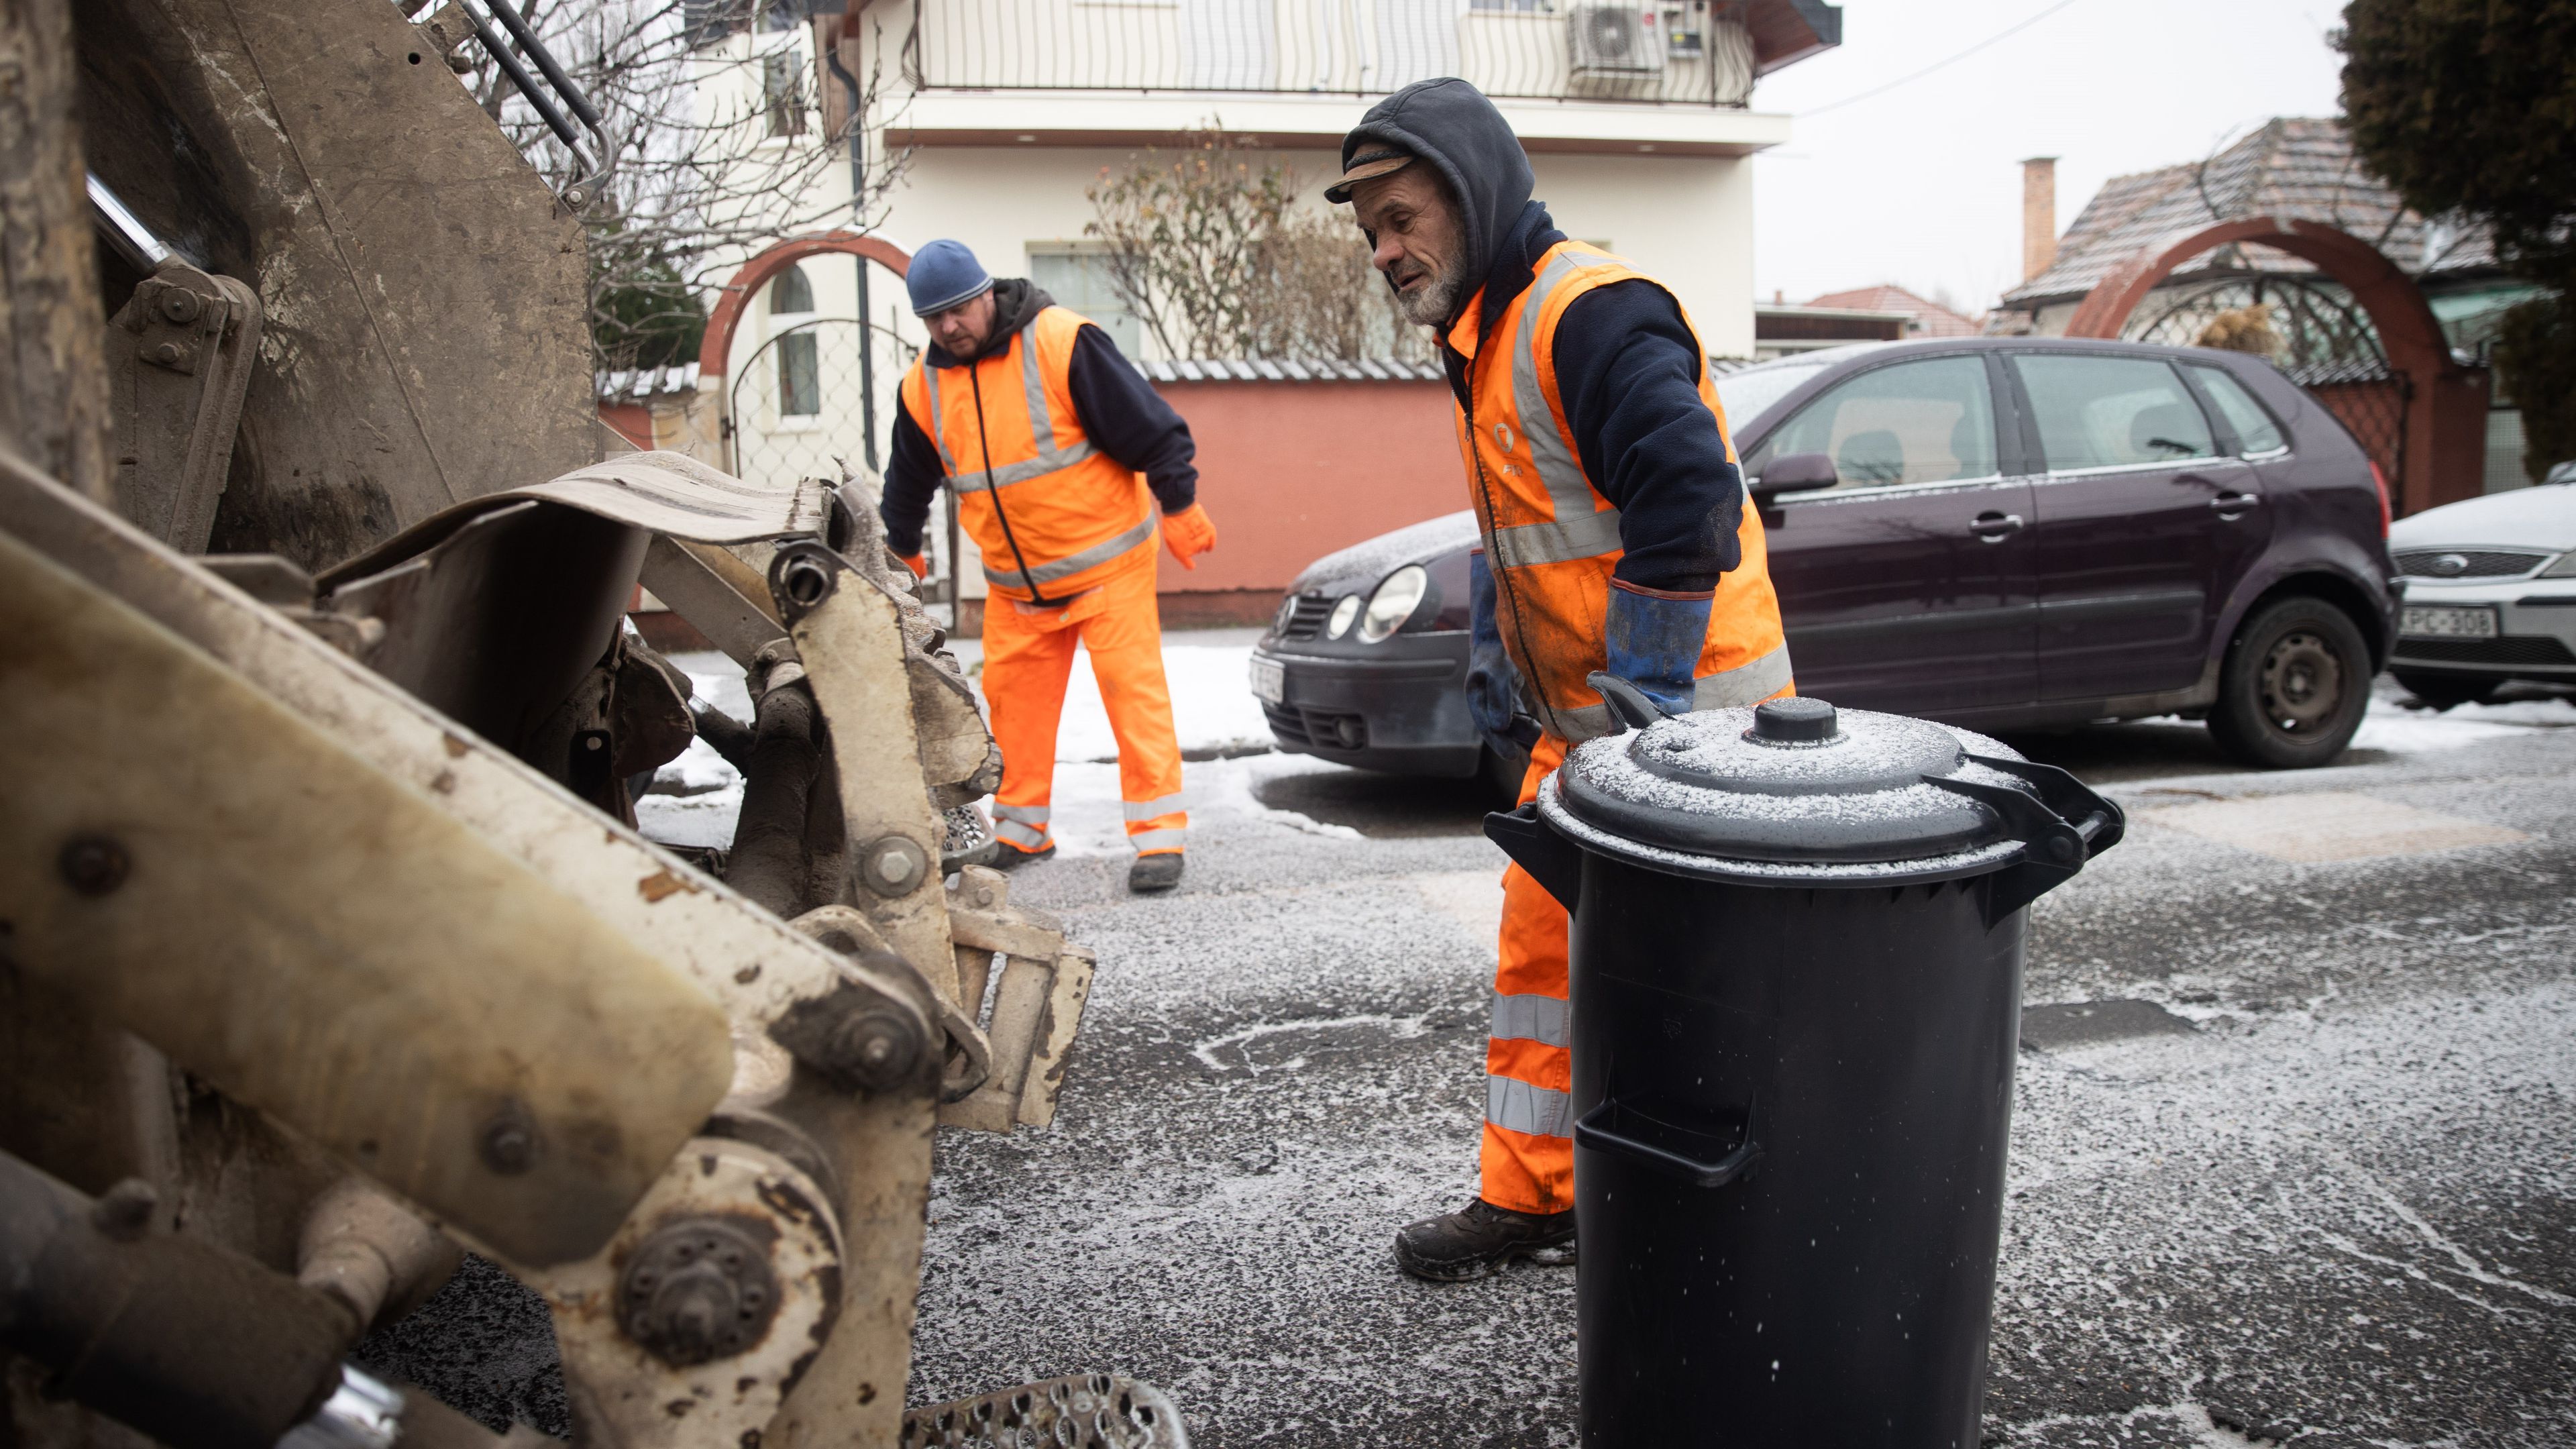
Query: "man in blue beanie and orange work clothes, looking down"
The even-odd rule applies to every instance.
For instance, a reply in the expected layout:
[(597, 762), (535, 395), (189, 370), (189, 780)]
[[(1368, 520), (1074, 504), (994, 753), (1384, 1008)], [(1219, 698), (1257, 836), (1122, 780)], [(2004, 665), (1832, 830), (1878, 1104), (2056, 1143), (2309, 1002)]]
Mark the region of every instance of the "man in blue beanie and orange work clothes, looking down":
[(1056, 853), (1048, 802), (1074, 645), (1090, 650), (1118, 735), (1128, 890), (1180, 884), (1180, 735), (1162, 676), (1154, 511), (1182, 567), (1216, 547), (1198, 505), (1190, 425), (1095, 322), (1028, 281), (994, 281), (963, 242), (930, 242), (904, 273), (930, 348), (904, 374), (878, 516), (922, 572), (940, 485), (984, 554), (984, 699), (1002, 745), (999, 866)]

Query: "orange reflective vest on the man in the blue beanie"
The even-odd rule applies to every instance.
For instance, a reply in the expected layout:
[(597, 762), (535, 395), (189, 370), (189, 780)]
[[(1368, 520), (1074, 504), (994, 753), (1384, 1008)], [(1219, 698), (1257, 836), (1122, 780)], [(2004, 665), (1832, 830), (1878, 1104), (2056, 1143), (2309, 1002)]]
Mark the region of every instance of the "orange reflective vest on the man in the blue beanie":
[(1154, 567), (1144, 474), (1095, 449), (1074, 415), (1082, 327), (1077, 312), (1046, 307), (999, 353), (969, 366), (930, 366), (922, 353), (904, 374), (904, 410), (938, 443), (958, 523), (1005, 598), (1064, 601)]

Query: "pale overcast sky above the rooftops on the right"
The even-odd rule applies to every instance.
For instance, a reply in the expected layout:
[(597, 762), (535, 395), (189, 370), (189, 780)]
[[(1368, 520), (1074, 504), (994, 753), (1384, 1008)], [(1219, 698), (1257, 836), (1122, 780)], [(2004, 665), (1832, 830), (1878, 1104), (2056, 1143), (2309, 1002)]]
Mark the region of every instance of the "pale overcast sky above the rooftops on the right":
[(2022, 157), (2058, 157), (2063, 232), (2105, 178), (2339, 111), (2334, 0), (2056, 3), (1844, 0), (1842, 49), (1767, 75), (1754, 108), (1795, 131), (1752, 162), (1757, 297), (1893, 281), (1976, 315), (2022, 278)]

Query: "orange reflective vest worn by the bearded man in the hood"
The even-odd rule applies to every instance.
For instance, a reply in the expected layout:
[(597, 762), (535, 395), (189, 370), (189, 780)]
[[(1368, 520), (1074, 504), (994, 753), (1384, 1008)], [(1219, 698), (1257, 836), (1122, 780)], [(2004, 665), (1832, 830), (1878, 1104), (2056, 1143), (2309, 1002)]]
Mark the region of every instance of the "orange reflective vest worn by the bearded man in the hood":
[[(1566, 407), (1556, 394), (1556, 325), (1577, 297), (1613, 281), (1654, 278), (1600, 248), (1556, 242), (1481, 348), (1481, 294), (1450, 327), (1450, 348), (1468, 358), (1458, 451), (1466, 456), (1476, 526), (1494, 570), (1494, 624), (1535, 696), (1540, 727), (1574, 743), (1618, 730), (1584, 676), (1610, 663), (1602, 619), (1610, 608), (1610, 570), (1625, 549), (1620, 513), (1584, 477), (1582, 451), (1566, 428)], [(1682, 325), (1690, 327), (1687, 312)], [(1698, 343), (1698, 327), (1690, 335)], [(1726, 459), (1736, 462), (1726, 407), (1708, 379), (1705, 343), (1700, 356), (1700, 402), (1718, 423)], [(1744, 500), (1736, 544), (1744, 562), (1718, 575), (1708, 645), (1692, 670), (1692, 709), (1754, 704), (1790, 688), (1788, 637), (1770, 585), (1762, 511), (1752, 498)]]

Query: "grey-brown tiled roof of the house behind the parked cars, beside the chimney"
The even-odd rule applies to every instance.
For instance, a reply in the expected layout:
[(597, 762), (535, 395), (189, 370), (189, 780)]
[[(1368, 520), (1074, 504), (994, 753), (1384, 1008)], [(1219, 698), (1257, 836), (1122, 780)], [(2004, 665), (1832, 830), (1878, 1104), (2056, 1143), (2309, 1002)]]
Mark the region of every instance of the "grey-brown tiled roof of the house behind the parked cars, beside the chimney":
[[(2004, 294), (2004, 307), (2081, 297), (2112, 268), (2166, 237), (2233, 217), (2326, 222), (2378, 245), (2409, 273), (2491, 266), (2483, 232), (2427, 224), (2362, 170), (2336, 121), (2280, 116), (2208, 162), (2115, 175), (2094, 191), (2066, 235), (2058, 260)], [(2197, 271), (2313, 271), (2269, 248), (2218, 248), (2174, 276)]]

